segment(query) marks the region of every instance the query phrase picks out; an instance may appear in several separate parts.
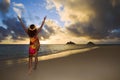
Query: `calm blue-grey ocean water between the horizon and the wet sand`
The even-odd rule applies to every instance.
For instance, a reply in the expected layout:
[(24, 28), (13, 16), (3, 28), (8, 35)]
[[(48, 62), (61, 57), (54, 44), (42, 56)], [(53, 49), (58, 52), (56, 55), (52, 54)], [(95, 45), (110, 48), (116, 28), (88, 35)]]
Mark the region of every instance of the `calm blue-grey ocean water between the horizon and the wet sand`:
[[(55, 54), (67, 50), (86, 48), (86, 45), (66, 45), (66, 44), (41, 44), (38, 55)], [(0, 60), (18, 59), (28, 57), (29, 45), (12, 44), (0, 45)]]

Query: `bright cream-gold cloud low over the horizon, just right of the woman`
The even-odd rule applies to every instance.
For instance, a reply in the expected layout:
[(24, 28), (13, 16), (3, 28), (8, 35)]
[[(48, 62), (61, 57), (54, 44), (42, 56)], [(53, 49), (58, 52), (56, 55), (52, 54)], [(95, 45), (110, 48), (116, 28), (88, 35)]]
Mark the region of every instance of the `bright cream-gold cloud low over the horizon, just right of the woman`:
[[(48, 35), (48, 39), (45, 40), (46, 43), (48, 44), (63, 44), (68, 41), (75, 41), (77, 43), (83, 42), (81, 40), (86, 40), (85, 38), (81, 37), (74, 37), (68, 33), (68, 31), (65, 28), (61, 28), (55, 20), (47, 20), (45, 22), (45, 26), (43, 27), (44, 29), (44, 34)], [(43, 32), (40, 33), (41, 35)], [(80, 39), (81, 38), (81, 39)]]

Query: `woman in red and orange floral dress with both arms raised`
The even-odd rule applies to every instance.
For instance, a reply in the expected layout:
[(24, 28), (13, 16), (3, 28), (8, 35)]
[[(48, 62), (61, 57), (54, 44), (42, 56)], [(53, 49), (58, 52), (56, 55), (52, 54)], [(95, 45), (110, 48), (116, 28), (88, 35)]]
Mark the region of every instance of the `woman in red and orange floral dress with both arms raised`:
[(18, 16), (18, 19), (24, 29), (24, 31), (28, 34), (30, 38), (30, 45), (29, 45), (29, 73), (32, 71), (32, 63), (33, 63), (33, 57), (35, 58), (35, 65), (34, 69), (37, 68), (38, 63), (38, 50), (40, 48), (40, 42), (38, 38), (38, 33), (41, 31), (44, 22), (46, 20), (46, 16), (44, 17), (44, 20), (42, 21), (41, 26), (37, 29), (34, 24), (30, 25), (27, 29), (26, 26), (23, 24), (21, 18)]

